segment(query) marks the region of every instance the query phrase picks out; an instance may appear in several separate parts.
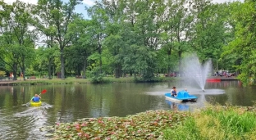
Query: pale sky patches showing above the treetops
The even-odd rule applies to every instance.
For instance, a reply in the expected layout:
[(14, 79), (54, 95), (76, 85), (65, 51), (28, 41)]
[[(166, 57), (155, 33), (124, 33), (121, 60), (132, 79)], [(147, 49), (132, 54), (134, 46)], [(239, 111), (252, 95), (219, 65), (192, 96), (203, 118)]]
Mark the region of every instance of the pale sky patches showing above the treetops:
[[(16, 0), (3, 0), (3, 1), (7, 2), (7, 3), (16, 2)], [(37, 0), (20, 0), (20, 1), (29, 2), (29, 3), (32, 3), (32, 4), (37, 3)], [(75, 11), (77, 13), (83, 14), (85, 16), (85, 18), (88, 18), (87, 12), (85, 11), (85, 6), (86, 7), (91, 7), (91, 6), (94, 5), (95, 1), (96, 0), (83, 0), (83, 4), (76, 6)], [(212, 2), (233, 2), (233, 1), (236, 1), (236, 0), (213, 0)], [(239, 0), (239, 1), (244, 1), (244, 0)], [(68, 0), (63, 0), (63, 2), (68, 2)]]

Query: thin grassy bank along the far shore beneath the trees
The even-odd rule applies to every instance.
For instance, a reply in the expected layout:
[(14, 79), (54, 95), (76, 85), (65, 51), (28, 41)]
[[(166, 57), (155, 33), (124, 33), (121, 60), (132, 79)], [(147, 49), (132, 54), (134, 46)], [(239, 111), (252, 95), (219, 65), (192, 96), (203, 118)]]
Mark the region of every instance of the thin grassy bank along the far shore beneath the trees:
[[(167, 77), (158, 77), (155, 78), (153, 82), (163, 82), (171, 81), (179, 78), (167, 78)], [(104, 77), (102, 83), (131, 83), (131, 82), (145, 82), (142, 79), (134, 79), (133, 77)], [(2, 80), (0, 85), (24, 85), (24, 84), (89, 84), (92, 83), (91, 79), (75, 79), (75, 77), (70, 77), (66, 79), (18, 79), (13, 80)]]

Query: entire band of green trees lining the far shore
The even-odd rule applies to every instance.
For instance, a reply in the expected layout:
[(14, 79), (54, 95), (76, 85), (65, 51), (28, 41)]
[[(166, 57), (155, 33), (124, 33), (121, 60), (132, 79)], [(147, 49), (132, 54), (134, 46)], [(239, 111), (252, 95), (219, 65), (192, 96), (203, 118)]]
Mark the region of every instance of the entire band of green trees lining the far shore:
[[(211, 0), (98, 0), (75, 12), (81, 0), (0, 1), (0, 68), (7, 75), (82, 76), (102, 80), (182, 72), (196, 53), (214, 70), (256, 78), (256, 2)], [(24, 77), (25, 80), (25, 77)]]

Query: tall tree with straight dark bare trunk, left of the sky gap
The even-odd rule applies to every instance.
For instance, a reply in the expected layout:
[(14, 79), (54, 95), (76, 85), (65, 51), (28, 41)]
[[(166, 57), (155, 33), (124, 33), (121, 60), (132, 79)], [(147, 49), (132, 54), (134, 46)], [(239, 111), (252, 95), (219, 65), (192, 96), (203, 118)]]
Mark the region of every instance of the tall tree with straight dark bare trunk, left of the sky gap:
[[(41, 12), (45, 13), (43, 18), (49, 18), (43, 24), (49, 30), (43, 30), (43, 33), (47, 36), (50, 34), (49, 37), (53, 37), (60, 49), (62, 79), (65, 79), (64, 48), (71, 45), (71, 40), (75, 36), (70, 27), (75, 18), (79, 17), (79, 14), (75, 13), (75, 6), (80, 4), (80, 2), (81, 0), (69, 0), (68, 2), (62, 2), (61, 0), (39, 0), (39, 8), (41, 7)], [(47, 11), (43, 11), (46, 7)]]

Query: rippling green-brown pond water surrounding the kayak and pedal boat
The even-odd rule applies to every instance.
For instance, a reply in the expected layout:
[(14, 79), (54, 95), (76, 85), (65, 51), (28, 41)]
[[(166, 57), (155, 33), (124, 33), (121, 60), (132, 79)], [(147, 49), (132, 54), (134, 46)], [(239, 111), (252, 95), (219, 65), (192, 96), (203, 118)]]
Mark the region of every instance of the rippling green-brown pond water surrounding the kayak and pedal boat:
[[(252, 106), (256, 101), (255, 87), (243, 88), (239, 81), (207, 83), (205, 93), (196, 85), (158, 84), (70, 84), (37, 86), (0, 86), (0, 139), (47, 139), (39, 128), (56, 122), (71, 122), (81, 118), (126, 116), (149, 110), (188, 110), (190, 104), (165, 101), (164, 93), (172, 86), (188, 88), (199, 97), (193, 106), (203, 102), (224, 105)], [(25, 106), (34, 93), (43, 89), (43, 106)]]

